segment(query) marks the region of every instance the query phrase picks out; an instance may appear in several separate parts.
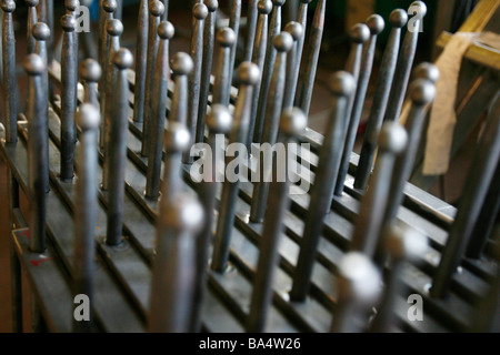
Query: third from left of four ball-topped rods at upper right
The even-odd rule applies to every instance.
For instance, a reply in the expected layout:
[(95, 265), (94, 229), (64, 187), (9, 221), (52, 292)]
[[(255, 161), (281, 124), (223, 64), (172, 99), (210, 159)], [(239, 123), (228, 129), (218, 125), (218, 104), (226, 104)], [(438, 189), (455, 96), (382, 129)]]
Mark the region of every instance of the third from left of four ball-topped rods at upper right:
[(392, 29), (380, 63), (376, 91), (373, 94), (373, 103), (367, 121), (367, 130), (363, 138), (358, 169), (356, 171), (356, 189), (366, 190), (368, 186), (368, 180), (373, 166), (373, 159), (377, 150), (377, 140), (382, 126), (382, 120), (386, 114), (387, 102), (389, 100), (389, 93), (392, 85), (392, 79), (394, 77), (399, 53), (399, 42), (401, 38), (401, 28), (407, 23), (407, 21), (408, 14), (401, 9), (392, 11), (389, 17), (389, 22), (391, 23)]

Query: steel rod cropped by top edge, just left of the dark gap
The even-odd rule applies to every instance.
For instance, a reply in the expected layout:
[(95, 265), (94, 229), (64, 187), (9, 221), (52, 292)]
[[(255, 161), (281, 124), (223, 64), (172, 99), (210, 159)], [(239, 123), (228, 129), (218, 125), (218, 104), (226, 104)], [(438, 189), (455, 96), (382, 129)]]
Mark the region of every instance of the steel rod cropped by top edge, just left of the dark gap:
[(312, 20), (308, 54), (306, 57), (304, 67), (300, 79), (301, 89), (298, 92), (298, 100), (296, 100), (296, 105), (299, 106), (308, 116), (311, 105), (312, 91), (314, 88), (314, 78), (321, 50), (321, 41), (323, 38), (326, 8), (327, 1), (319, 0), (316, 7), (314, 18)]

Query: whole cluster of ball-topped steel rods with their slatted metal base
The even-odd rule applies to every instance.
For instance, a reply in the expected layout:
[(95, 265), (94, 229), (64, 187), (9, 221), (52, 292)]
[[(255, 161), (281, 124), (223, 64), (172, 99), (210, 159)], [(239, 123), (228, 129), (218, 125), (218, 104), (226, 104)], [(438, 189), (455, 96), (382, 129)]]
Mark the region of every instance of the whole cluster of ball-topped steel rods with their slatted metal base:
[[(16, 3), (2, 0), (1, 152), (17, 329), (22, 266), (50, 331), (494, 331), (499, 95), (454, 210), (408, 183), (439, 80), (434, 65), (413, 65), (420, 21), (406, 30), (408, 12), (397, 9), (388, 26), (373, 14), (350, 30), (347, 63), (329, 79), (320, 136), (307, 125), (328, 2), (300, 1), (298, 18), (283, 23), (284, 2), (242, 9), (246, 2), (230, 1), (229, 27), (218, 27), (218, 1), (197, 1), (183, 53), (170, 45), (169, 1), (142, 0), (132, 54), (120, 41), (121, 1), (102, 0), (97, 58), (89, 59), (79, 51), (78, 1), (64, 1), (60, 21), (52, 1), (26, 1), (23, 99)], [(426, 4), (416, 8), (423, 19)], [(374, 78), (383, 31), (389, 40)], [(281, 144), (284, 155), (277, 149), (266, 159), (266, 144)], [(239, 179), (228, 176), (229, 166)], [(90, 320), (73, 320), (81, 294)], [(407, 316), (411, 294), (423, 298), (423, 322)]]

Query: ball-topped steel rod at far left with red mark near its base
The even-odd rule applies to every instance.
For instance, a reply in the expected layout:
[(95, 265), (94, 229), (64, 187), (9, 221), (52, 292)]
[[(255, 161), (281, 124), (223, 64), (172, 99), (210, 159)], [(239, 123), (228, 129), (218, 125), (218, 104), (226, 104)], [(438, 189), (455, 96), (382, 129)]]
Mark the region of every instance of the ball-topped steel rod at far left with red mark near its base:
[[(3, 2), (4, 3), (4, 2)], [(44, 106), (41, 94), (41, 74), (46, 64), (40, 55), (31, 53), (23, 62), (24, 71), (29, 75), (28, 97), (28, 176), (29, 176), (29, 226), (30, 251), (43, 253), (46, 250), (46, 215), (47, 215), (47, 161), (46, 145), (48, 134), (43, 122)]]

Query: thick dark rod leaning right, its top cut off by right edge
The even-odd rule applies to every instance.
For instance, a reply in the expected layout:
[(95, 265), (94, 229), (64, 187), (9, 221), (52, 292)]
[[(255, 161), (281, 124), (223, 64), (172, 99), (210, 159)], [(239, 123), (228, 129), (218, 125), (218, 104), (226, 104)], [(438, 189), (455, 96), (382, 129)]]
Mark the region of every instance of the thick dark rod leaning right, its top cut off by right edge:
[(457, 216), (451, 226), (447, 245), (441, 254), (441, 262), (433, 277), (430, 293), (433, 297), (444, 297), (452, 283), (457, 267), (459, 266), (467, 244), (470, 241), (488, 187), (497, 169), (500, 156), (500, 99), (488, 116), (484, 133), (476, 149), (472, 165), (467, 175), (464, 191), (460, 197)]

